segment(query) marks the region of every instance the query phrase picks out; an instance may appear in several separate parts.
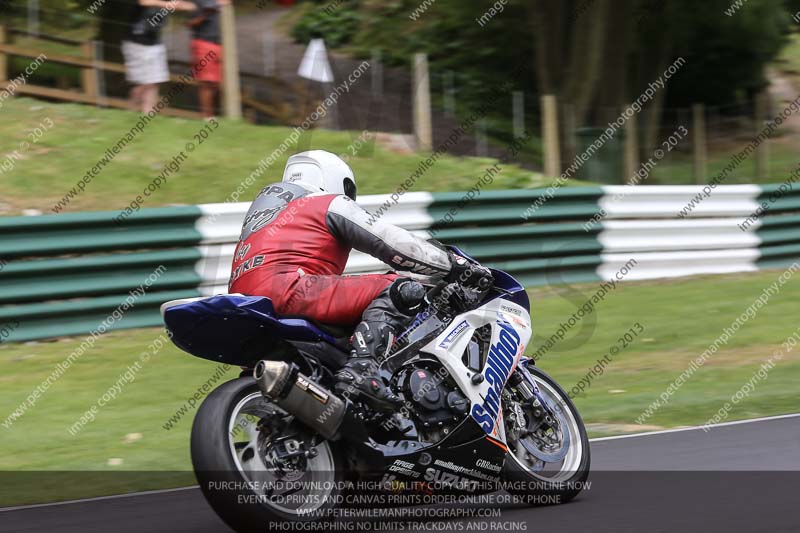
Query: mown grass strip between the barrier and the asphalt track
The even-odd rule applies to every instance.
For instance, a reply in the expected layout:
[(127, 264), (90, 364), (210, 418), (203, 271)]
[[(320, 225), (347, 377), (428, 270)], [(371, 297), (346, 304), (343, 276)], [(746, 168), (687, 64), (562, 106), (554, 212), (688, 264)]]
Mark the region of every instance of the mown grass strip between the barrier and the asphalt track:
[[(538, 364), (569, 390), (638, 322), (644, 331), (613, 357), (602, 375), (594, 377), (591, 386), (576, 398), (590, 433), (598, 436), (703, 424), (797, 330), (800, 285), (784, 285), (646, 425), (637, 425), (636, 418), (778, 274), (766, 271), (619, 285)], [(532, 290), (536, 334), (528, 354), (596, 290), (592, 284)], [(15, 490), (0, 494), (0, 505), (164, 488), (186, 484), (191, 479), (189, 432), (196, 407), (189, 405), (189, 398), (215, 374), (219, 377), (212, 388), (236, 377), (236, 369), (218, 373), (217, 365), (165, 345), (140, 364), (133, 379), (98, 409), (94, 420), (74, 435), (69, 431), (81, 415), (114, 388), (120, 376), (141, 361), (140, 354), (150, 350), (150, 343), (161, 335), (163, 332), (158, 329), (146, 329), (103, 336), (41, 396), (35, 407), (10, 428), (0, 426), (0, 471), (128, 474), (120, 474), (119, 478), (109, 475), (107, 483), (61, 485), (52, 492), (46, 488), (36, 492)], [(80, 341), (71, 338), (0, 347), (0, 421), (6, 420)], [(788, 353), (765, 380), (734, 406), (727, 419), (797, 412), (798, 381), (800, 353)], [(181, 411), (183, 414), (178, 416)], [(170, 474), (137, 476), (130, 472)], [(174, 479), (170, 477), (173, 475)], [(116, 481), (112, 483), (113, 480)]]

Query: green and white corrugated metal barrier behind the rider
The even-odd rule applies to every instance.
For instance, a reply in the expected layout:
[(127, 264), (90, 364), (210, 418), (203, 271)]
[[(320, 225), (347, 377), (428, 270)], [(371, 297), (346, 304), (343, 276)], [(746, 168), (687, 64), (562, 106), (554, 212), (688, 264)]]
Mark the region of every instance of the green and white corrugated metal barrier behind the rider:
[[(625, 279), (800, 262), (800, 191), (786, 184), (723, 185), (681, 219), (678, 213), (702, 190), (415, 192), (399, 201), (382, 195), (360, 202), (373, 210), (391, 206), (391, 222), (454, 244), (526, 286), (615, 279), (632, 259)], [(763, 216), (742, 224), (762, 202), (769, 206)], [(104, 331), (160, 326), (163, 302), (226, 292), (248, 207), (142, 209), (119, 224), (113, 221), (119, 212), (0, 218), (0, 327), (13, 330), (0, 341), (85, 335), (101, 325)], [(346, 273), (386, 268), (361, 256)], [(131, 299), (134, 306), (109, 322)]]

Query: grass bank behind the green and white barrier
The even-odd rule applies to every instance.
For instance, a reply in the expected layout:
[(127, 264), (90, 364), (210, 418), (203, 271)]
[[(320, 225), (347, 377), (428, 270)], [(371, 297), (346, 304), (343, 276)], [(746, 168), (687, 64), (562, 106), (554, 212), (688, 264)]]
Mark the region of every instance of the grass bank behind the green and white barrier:
[[(191, 90), (191, 89), (190, 89)], [(18, 156), (0, 167), (3, 195), (0, 215), (23, 209), (51, 208), (75, 187), (121, 137), (133, 128), (138, 115), (123, 110), (104, 110), (77, 104), (50, 104), (29, 98), (7, 100), (0, 109), (0, 162)], [(45, 129), (31, 142), (31, 132)], [(166, 176), (166, 184), (145, 198), (143, 207), (172, 204), (221, 202), (284, 142), (291, 128), (256, 126), (219, 119), (219, 127), (208, 132), (202, 144), (195, 135), (205, 122), (156, 117), (116, 154), (110, 163), (72, 199), (63, 212), (115, 210), (129, 205), (181, 152), (185, 159), (177, 172)], [(310, 130), (266, 169), (240, 201), (249, 201), (267, 183), (280, 181), (286, 159), (295, 152), (325, 149), (350, 156), (360, 194), (397, 190), (414, 174), (429, 154), (396, 153), (374, 142), (358, 142), (359, 133)], [(27, 149), (20, 143), (31, 142)], [(193, 142), (193, 152), (186, 145)], [(364, 146), (362, 146), (364, 144)], [(357, 155), (353, 149), (358, 147)], [(416, 180), (413, 190), (468, 190), (497, 161), (490, 158), (443, 156)], [(513, 189), (551, 184), (539, 174), (514, 165), (501, 164), (502, 172), (487, 188)], [(580, 184), (580, 182), (575, 182)]]

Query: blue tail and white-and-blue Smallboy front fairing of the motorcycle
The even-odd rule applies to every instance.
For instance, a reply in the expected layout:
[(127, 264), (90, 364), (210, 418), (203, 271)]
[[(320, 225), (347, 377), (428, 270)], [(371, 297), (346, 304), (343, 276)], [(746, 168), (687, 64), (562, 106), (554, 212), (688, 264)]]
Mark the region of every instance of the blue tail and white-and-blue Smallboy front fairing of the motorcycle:
[[(453, 251), (474, 261), (457, 248)], [(470, 400), (472, 419), (488, 436), (505, 443), (500, 392), (531, 338), (530, 301), (512, 276), (502, 270), (491, 271), (495, 297), (478, 309), (457, 316), (421, 351), (435, 356), (448, 369)], [(254, 364), (276, 340), (338, 346), (334, 337), (313, 322), (278, 316), (272, 301), (262, 296), (225, 294), (174, 300), (162, 305), (161, 312), (172, 341), (179, 348), (231, 365)], [(471, 369), (462, 356), (475, 330), (487, 324), (492, 335), (485, 364), (481, 369)], [(476, 373), (482, 377), (474, 378)]]

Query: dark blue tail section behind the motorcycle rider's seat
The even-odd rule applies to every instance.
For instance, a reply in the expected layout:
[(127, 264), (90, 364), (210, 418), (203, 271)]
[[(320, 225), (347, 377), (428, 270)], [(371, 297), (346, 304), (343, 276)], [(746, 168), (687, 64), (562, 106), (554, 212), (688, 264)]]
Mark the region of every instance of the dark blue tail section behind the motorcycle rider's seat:
[(282, 340), (335, 342), (307, 320), (279, 318), (263, 296), (226, 294), (168, 305), (164, 323), (185, 352), (239, 366), (263, 359)]

